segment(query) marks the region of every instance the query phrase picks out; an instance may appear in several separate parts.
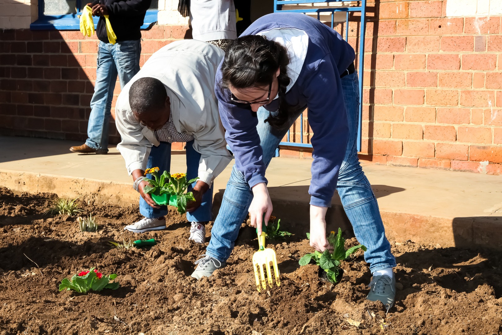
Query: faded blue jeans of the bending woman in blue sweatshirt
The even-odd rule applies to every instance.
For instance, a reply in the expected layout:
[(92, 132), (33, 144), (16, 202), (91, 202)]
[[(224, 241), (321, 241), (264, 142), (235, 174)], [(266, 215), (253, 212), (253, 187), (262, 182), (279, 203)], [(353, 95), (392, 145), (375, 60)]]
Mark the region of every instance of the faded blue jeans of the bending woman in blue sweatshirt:
[[(370, 264), (371, 272), (374, 272), (395, 267), (396, 260), (385, 236), (384, 224), (376, 198), (371, 190), (371, 185), (362, 172), (357, 156), (356, 138), (359, 107), (357, 74), (352, 73), (344, 76), (341, 83), (349, 126), (349, 138), (336, 189), (345, 213), (352, 224), (357, 241), (367, 248), (364, 259)], [(290, 125), (298, 118), (304, 108), (305, 106), (298, 109), (297, 113), (292, 114)], [(268, 123), (264, 123), (268, 114), (269, 112), (263, 107), (257, 113), (259, 120), (257, 129), (263, 149), (263, 161), (266, 166), (269, 165), (276, 148), (287, 132), (287, 129), (279, 132)], [(223, 194), (219, 214), (211, 230), (211, 240), (207, 246), (206, 254), (219, 261), (226, 261), (230, 257), (240, 225), (247, 216), (247, 210), (252, 200), (253, 193), (249, 185), (245, 182), (243, 174), (234, 165)]]

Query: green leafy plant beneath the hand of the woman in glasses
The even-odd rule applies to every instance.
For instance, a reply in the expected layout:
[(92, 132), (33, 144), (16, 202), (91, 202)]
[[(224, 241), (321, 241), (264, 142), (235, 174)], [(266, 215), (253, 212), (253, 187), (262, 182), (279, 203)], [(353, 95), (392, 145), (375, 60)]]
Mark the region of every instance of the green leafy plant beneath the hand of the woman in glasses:
[[(307, 238), (310, 239), (309, 233), (307, 233)], [(328, 250), (325, 250), (323, 253), (316, 250), (300, 258), (298, 263), (303, 266), (309, 264), (311, 259), (314, 259), (316, 264), (326, 271), (328, 280), (332, 283), (336, 283), (336, 278), (340, 273), (340, 262), (345, 261), (357, 249), (366, 251), (366, 247), (358, 245), (345, 250), (345, 239), (342, 238), (342, 230), (340, 228), (338, 228), (338, 234), (335, 235), (335, 232), (331, 232), (327, 239), (329, 244), (333, 247), (332, 254)]]

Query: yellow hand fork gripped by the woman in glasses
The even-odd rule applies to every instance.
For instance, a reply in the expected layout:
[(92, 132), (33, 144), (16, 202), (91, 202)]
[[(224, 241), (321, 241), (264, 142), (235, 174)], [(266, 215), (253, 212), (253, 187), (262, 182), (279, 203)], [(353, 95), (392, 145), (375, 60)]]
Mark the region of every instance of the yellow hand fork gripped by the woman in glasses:
[[(258, 292), (261, 292), (260, 286), (263, 287), (264, 290), (267, 289), (267, 284), (265, 281), (265, 273), (263, 271), (264, 265), (267, 271), (267, 280), (269, 282), (269, 286), (272, 287), (274, 285), (274, 283), (272, 282), (272, 274), (270, 272), (270, 262), (272, 262), (272, 266), (274, 267), (274, 276), (276, 277), (276, 284), (277, 286), (281, 286), (281, 281), (279, 279), (279, 268), (277, 267), (276, 252), (270, 248), (265, 248), (265, 234), (267, 233), (267, 227), (265, 226), (265, 221), (263, 222), (262, 230), (263, 230), (262, 234), (258, 235), (258, 244), (260, 246), (260, 250), (253, 255), (253, 269), (255, 270), (256, 288)], [(260, 274), (258, 274), (258, 272), (260, 272)], [(260, 285), (260, 279), (262, 279), (261, 285)]]

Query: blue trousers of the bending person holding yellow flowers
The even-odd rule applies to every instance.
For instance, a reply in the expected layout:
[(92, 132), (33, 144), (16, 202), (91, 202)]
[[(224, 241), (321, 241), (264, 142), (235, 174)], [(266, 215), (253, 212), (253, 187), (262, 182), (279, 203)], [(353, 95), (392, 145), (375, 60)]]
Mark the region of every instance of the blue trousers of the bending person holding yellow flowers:
[[(187, 180), (197, 177), (199, 174), (199, 161), (200, 154), (193, 148), (193, 141), (187, 142), (186, 144), (186, 158), (187, 158)], [(171, 143), (161, 142), (158, 147), (153, 146), (150, 151), (150, 156), (148, 157), (147, 167), (159, 167), (160, 171), (170, 171), (171, 170)], [(170, 171), (171, 173), (177, 173), (179, 171)], [(147, 174), (148, 178), (153, 178), (151, 174)], [(195, 186), (196, 182), (192, 183), (192, 186), (188, 187), (190, 192)], [(187, 212), (187, 220), (190, 222), (205, 222), (212, 219), (211, 208), (213, 205), (213, 185), (202, 195), (202, 204), (199, 208), (193, 212)], [(151, 207), (145, 199), (140, 196), (140, 213), (149, 218), (156, 218), (165, 216), (168, 213), (167, 206), (161, 206), (160, 209)]]

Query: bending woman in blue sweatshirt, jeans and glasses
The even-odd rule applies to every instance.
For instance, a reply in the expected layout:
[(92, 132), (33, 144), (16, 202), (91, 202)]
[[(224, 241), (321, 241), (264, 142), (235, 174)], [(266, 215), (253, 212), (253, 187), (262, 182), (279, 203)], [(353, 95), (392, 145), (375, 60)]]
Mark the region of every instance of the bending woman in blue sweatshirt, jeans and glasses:
[(326, 210), (338, 190), (357, 240), (367, 247), (373, 279), (368, 295), (392, 306), (396, 266), (371, 186), (359, 165), (359, 90), (352, 47), (333, 29), (303, 14), (275, 13), (233, 41), (216, 73), (215, 93), (225, 138), (235, 155), (206, 256), (195, 278), (226, 265), (249, 212), (262, 231), (272, 213), (265, 170), (287, 130), (308, 108), (313, 130), (310, 245), (322, 252)]

